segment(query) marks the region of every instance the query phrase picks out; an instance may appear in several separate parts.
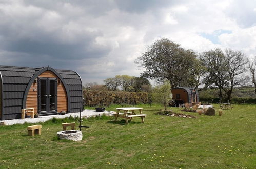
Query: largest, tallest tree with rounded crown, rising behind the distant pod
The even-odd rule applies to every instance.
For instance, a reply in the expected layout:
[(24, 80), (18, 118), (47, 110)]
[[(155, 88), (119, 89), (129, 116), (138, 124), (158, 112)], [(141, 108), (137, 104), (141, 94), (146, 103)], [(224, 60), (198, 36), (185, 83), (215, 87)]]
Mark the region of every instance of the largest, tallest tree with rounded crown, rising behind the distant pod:
[(146, 70), (143, 77), (170, 81), (171, 87), (178, 87), (188, 79), (188, 73), (196, 59), (195, 52), (181, 48), (167, 38), (156, 40), (142, 56), (136, 59)]

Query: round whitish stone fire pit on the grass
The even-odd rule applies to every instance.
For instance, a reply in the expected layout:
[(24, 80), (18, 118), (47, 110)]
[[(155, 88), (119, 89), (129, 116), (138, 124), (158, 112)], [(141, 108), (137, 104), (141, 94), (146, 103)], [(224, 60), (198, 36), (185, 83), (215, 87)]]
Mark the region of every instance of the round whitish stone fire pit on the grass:
[(73, 141), (81, 141), (83, 138), (82, 132), (80, 130), (64, 130), (57, 132), (58, 138), (73, 140)]

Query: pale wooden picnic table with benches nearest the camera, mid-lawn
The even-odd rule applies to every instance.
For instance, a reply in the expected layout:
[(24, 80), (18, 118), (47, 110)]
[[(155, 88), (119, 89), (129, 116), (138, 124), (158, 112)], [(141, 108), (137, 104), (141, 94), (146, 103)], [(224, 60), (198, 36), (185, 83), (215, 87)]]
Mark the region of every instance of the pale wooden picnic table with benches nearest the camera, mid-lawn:
[[(117, 112), (115, 114), (115, 121), (116, 121), (117, 117), (121, 117), (121, 118), (125, 119), (126, 124), (129, 124), (128, 119), (129, 119), (129, 121), (131, 121), (132, 117), (141, 117), (141, 121), (142, 121), (142, 123), (144, 123), (144, 118), (145, 118), (145, 116), (147, 116), (146, 114), (142, 114), (143, 108), (116, 108), (116, 110), (117, 110)], [(136, 114), (135, 110), (139, 110), (140, 114)], [(120, 111), (123, 111), (123, 112), (120, 112)], [(131, 111), (131, 112), (129, 112), (129, 111)]]

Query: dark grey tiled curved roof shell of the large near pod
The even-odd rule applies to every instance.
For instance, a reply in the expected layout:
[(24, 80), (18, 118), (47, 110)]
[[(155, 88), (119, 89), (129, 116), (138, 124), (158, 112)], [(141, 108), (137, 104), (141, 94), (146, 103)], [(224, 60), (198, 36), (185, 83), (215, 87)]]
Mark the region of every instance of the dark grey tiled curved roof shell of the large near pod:
[[(26, 108), (28, 90), (33, 81), (44, 71), (52, 71), (63, 82), (68, 97), (68, 111), (79, 112), (82, 103), (82, 80), (71, 70), (55, 70), (51, 67), (28, 68), (0, 66), (0, 119), (19, 118)], [(2, 115), (2, 117), (1, 117)]]

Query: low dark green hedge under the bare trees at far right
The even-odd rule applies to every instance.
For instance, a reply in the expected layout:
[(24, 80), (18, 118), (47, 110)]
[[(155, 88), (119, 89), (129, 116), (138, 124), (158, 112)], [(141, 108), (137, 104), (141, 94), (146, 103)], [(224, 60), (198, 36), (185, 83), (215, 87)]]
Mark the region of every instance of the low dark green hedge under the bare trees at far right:
[[(201, 102), (209, 102), (211, 103), (211, 100), (213, 100), (213, 103), (219, 103), (220, 102), (220, 99), (219, 98), (216, 98), (216, 97), (212, 97), (212, 98), (199, 98), (199, 100)], [(222, 102), (228, 102), (227, 99), (224, 99)], [(230, 100), (230, 103), (237, 103), (237, 104), (243, 104), (243, 103), (246, 103), (246, 104), (256, 104), (256, 98), (242, 98), (242, 97), (233, 97), (231, 98)]]

